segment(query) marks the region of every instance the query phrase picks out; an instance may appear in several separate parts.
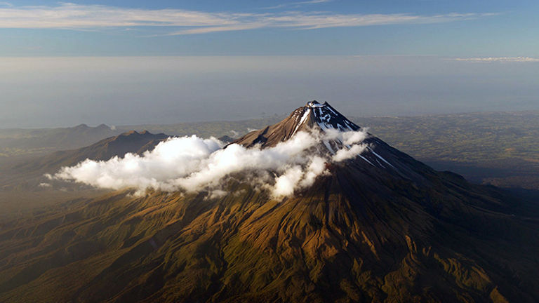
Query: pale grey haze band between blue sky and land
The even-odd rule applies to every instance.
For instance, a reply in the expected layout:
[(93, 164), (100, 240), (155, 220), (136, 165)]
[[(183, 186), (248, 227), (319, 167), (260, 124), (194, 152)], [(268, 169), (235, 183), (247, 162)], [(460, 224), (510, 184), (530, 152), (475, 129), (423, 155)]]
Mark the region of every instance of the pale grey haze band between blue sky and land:
[(539, 62), (428, 56), (0, 58), (0, 128), (539, 109)]

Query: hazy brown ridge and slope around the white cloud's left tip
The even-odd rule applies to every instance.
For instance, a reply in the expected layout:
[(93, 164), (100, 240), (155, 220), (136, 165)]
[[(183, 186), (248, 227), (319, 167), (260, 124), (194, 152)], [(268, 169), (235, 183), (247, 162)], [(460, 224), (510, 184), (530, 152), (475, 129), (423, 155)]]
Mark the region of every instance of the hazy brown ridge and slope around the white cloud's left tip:
[[(109, 137), (79, 149), (53, 152), (44, 156), (34, 155), (25, 161), (4, 162), (0, 165), (0, 228), (1, 222), (27, 211), (50, 208), (55, 203), (79, 201), (102, 191), (80, 184), (60, 184), (44, 177), (55, 173), (62, 166), (73, 166), (85, 159), (107, 160), (112, 156), (124, 156), (127, 152), (141, 154), (153, 149), (168, 136), (143, 131), (131, 131)], [(7, 158), (7, 157), (6, 157)]]

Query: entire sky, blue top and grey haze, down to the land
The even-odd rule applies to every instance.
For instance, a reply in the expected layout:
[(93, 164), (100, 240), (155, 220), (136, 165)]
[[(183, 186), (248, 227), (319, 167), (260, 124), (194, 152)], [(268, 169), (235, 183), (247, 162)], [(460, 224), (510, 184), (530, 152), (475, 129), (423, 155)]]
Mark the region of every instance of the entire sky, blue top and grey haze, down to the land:
[(0, 1), (0, 127), (539, 109), (539, 1)]

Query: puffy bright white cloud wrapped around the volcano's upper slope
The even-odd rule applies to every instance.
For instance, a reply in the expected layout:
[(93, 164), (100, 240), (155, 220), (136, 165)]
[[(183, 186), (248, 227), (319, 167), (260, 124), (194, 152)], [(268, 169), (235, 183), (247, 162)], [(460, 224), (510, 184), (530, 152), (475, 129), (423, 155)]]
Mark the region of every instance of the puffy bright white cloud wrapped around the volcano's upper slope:
[[(106, 189), (135, 187), (139, 194), (147, 188), (165, 191), (210, 191), (208, 198), (226, 194), (223, 181), (231, 175), (246, 173), (246, 180), (269, 189), (274, 197), (293, 194), (309, 187), (326, 173), (329, 161), (344, 161), (364, 151), (361, 142), (366, 131), (328, 133), (298, 132), (275, 147), (246, 148), (229, 144), (226, 148), (211, 137), (175, 137), (161, 142), (142, 155), (126, 154), (108, 161), (87, 159), (64, 167), (53, 177), (73, 180)], [(335, 154), (319, 152), (322, 140), (335, 140), (342, 146)], [(51, 177), (50, 175), (48, 177)]]

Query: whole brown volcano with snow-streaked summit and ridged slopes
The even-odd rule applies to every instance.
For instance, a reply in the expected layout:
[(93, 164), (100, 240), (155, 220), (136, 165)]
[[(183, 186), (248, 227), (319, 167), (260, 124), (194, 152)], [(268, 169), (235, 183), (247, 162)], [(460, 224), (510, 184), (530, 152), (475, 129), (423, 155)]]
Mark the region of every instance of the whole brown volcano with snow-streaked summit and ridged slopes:
[(2, 302), (539, 302), (539, 207), (415, 161), (328, 103), (228, 144), (319, 134), (328, 159), (276, 198), (248, 176), (226, 194), (112, 191), (0, 231)]

